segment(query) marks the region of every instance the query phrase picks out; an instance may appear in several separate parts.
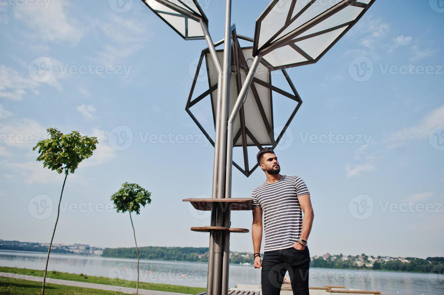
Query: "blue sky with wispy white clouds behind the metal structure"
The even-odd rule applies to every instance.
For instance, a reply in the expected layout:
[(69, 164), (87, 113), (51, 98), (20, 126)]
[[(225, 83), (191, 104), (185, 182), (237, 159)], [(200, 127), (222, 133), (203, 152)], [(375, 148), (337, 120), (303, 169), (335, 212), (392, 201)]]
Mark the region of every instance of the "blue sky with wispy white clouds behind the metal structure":
[[(304, 102), (276, 153), (281, 174), (310, 190), (311, 255), (444, 256), (441, 2), (377, 0), (318, 63), (289, 69)], [(122, 9), (111, 0), (26, 3), (0, 5), (0, 238), (49, 242), (63, 175), (44, 169), (32, 147), (56, 127), (99, 145), (67, 177), (54, 243), (133, 247), (129, 216), (110, 208), (128, 181), (152, 193), (134, 217), (139, 246), (208, 247), (208, 235), (189, 228), (209, 225), (209, 215), (182, 202), (211, 193), (214, 149), (184, 110), (205, 41), (183, 40), (136, 0)], [(224, 2), (200, 3), (222, 39)], [(233, 1), (239, 34), (253, 36), (267, 4)], [(36, 75), (51, 64), (52, 75)], [(277, 126), (290, 104), (275, 102)], [(209, 111), (196, 105), (205, 126)], [(232, 197), (250, 197), (264, 180), (234, 168)], [(251, 222), (251, 212), (232, 213), (233, 227)], [(230, 249), (252, 251), (251, 234), (231, 235)]]

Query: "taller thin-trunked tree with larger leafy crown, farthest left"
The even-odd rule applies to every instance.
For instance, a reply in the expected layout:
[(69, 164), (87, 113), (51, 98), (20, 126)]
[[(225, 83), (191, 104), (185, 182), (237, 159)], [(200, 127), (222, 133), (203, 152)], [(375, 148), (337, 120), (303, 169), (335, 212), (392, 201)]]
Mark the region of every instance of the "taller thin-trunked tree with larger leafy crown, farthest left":
[(56, 233), (57, 222), (60, 215), (60, 203), (62, 202), (63, 188), (65, 187), (68, 173), (74, 173), (80, 162), (91, 157), (97, 138), (80, 136), (78, 131), (72, 131), (70, 134), (63, 134), (56, 128), (46, 130), (50, 138), (41, 140), (32, 150), (39, 148), (39, 157), (37, 161), (43, 161), (43, 167), (56, 170), (59, 174), (64, 172), (62, 192), (60, 193), (59, 206), (57, 207), (57, 218), (54, 230), (52, 231), (51, 243), (49, 243), (48, 256), (46, 257), (45, 273), (43, 275), (42, 295), (45, 294), (46, 272), (48, 270), (49, 253), (51, 252), (52, 240)]

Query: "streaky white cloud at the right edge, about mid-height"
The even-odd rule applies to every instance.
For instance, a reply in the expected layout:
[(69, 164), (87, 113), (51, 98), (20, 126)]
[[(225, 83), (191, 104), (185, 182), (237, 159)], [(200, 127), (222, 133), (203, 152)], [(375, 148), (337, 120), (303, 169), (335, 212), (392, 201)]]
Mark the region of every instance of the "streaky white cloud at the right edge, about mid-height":
[(444, 125), (444, 106), (433, 110), (416, 126), (404, 128), (402, 130), (392, 133), (386, 142), (402, 142), (406, 140), (416, 140), (428, 138), (428, 134), (436, 126)]

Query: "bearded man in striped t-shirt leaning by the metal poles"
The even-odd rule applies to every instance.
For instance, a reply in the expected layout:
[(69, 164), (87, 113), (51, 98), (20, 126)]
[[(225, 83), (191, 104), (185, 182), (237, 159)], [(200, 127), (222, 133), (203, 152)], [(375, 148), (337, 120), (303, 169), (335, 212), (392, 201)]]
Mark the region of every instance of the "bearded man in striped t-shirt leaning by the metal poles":
[[(266, 175), (266, 181), (251, 194), (254, 268), (262, 270), (262, 295), (278, 295), (286, 271), (293, 294), (308, 295), (310, 253), (307, 240), (314, 217), (309, 190), (301, 177), (279, 173), (281, 167), (272, 148), (261, 149), (256, 158)], [(262, 212), (265, 246), (261, 261)]]

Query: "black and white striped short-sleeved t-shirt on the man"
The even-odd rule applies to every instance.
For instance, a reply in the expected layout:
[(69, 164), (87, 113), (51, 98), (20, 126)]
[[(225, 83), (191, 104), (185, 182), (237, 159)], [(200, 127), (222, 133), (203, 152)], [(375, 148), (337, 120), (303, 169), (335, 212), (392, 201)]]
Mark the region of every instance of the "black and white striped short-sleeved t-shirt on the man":
[(279, 181), (265, 181), (251, 193), (253, 207), (264, 213), (264, 252), (293, 247), (302, 228), (302, 210), (297, 197), (309, 194), (301, 177), (284, 175)]

